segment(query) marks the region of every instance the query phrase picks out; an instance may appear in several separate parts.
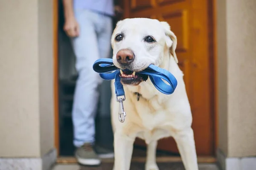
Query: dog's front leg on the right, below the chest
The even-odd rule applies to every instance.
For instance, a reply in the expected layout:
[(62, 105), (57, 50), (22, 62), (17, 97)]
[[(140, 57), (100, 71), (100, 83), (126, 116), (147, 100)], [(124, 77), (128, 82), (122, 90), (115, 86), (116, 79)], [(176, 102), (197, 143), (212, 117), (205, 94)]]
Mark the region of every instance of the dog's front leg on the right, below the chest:
[(186, 170), (198, 170), (195, 140), (192, 128), (178, 132), (173, 136)]

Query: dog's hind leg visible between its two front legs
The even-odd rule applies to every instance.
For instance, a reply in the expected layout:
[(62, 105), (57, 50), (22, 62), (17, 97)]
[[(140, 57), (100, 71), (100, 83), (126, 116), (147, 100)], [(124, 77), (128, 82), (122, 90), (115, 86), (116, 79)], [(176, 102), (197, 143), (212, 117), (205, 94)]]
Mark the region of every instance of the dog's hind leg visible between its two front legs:
[(156, 162), (157, 141), (152, 141), (147, 147), (145, 170), (159, 170)]

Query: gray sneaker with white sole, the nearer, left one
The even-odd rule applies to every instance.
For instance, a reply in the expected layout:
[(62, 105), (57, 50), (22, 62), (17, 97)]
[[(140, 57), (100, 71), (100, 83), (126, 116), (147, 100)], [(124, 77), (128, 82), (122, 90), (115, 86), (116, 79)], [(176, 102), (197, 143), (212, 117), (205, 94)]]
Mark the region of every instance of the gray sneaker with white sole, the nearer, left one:
[(83, 165), (99, 165), (101, 160), (93, 150), (93, 145), (85, 143), (83, 146), (78, 147), (75, 153), (76, 159)]

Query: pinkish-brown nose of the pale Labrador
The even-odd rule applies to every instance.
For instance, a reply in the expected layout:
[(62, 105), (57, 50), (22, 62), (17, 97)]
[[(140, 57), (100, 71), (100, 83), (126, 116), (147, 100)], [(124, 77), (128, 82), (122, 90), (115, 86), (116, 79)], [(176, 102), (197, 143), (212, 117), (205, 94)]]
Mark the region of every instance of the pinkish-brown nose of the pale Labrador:
[(120, 64), (130, 64), (134, 61), (135, 55), (129, 49), (123, 49), (117, 52), (116, 59)]

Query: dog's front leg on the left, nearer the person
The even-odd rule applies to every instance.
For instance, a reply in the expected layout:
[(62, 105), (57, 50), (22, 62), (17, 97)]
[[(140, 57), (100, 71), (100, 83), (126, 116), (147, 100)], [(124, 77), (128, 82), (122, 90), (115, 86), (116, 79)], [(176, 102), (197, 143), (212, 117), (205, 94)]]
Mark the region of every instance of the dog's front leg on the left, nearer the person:
[(128, 137), (122, 132), (114, 133), (114, 170), (129, 170), (133, 152), (134, 138)]

